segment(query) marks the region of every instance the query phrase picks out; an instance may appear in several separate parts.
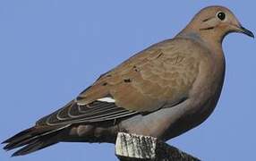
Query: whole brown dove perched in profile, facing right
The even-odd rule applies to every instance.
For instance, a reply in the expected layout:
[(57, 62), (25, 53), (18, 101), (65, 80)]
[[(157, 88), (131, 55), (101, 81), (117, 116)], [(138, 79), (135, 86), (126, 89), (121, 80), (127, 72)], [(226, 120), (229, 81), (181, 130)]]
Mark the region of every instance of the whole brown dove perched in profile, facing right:
[(6, 150), (26, 155), (61, 141), (115, 143), (119, 131), (170, 140), (206, 120), (220, 96), (223, 38), (250, 37), (234, 13), (209, 6), (175, 38), (133, 55), (34, 127), (5, 140)]

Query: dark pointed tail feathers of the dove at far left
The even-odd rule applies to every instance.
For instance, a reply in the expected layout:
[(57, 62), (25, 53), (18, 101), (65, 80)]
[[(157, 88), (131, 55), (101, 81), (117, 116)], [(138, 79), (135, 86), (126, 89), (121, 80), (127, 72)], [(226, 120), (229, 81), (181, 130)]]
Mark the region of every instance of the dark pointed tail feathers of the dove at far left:
[(3, 144), (7, 144), (4, 149), (12, 150), (20, 148), (13, 153), (15, 156), (23, 156), (42, 148), (47, 148), (59, 141), (58, 137), (64, 129), (69, 125), (64, 126), (35, 126), (25, 131), (21, 131), (8, 140), (4, 140)]

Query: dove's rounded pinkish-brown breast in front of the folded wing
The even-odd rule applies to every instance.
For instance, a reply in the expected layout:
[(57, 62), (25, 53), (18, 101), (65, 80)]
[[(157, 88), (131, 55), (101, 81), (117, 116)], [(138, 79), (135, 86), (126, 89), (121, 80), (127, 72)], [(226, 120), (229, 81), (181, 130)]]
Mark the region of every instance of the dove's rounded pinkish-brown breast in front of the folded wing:
[(218, 55), (206, 56), (200, 65), (200, 72), (192, 90), (192, 114), (197, 114), (203, 122), (217, 106), (225, 79), (225, 57), (222, 51)]

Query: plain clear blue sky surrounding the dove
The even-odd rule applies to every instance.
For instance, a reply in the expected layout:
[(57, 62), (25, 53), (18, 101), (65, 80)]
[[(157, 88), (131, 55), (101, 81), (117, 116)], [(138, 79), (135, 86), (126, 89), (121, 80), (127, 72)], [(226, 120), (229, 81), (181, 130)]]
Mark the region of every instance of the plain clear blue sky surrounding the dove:
[[(64, 106), (102, 72), (182, 30), (202, 7), (229, 7), (256, 32), (253, 1), (0, 1), (0, 140)], [(256, 145), (256, 41), (229, 35), (226, 80), (209, 119), (168, 143), (203, 160), (252, 160)], [(3, 145), (1, 145), (1, 148)], [(0, 160), (117, 160), (114, 145), (59, 143)]]

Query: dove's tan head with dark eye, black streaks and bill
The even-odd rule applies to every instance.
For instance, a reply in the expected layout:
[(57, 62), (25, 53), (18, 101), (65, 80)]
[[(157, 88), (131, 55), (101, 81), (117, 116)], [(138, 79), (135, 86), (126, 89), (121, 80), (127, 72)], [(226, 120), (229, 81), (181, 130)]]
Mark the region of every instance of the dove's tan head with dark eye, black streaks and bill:
[(239, 32), (254, 38), (252, 31), (243, 28), (235, 14), (223, 6), (209, 6), (197, 13), (187, 27), (181, 32), (195, 32), (202, 38), (222, 42), (232, 32)]

